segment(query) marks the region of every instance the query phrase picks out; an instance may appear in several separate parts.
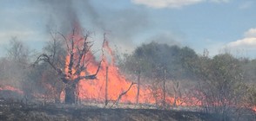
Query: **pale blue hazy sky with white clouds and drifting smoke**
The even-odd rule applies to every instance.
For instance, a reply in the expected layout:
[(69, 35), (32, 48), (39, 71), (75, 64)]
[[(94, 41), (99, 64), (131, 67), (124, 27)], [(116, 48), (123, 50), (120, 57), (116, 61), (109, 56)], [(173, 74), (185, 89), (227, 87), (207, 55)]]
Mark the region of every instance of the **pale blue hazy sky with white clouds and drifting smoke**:
[(0, 56), (12, 36), (40, 51), (49, 29), (68, 33), (77, 20), (96, 46), (107, 32), (123, 51), (159, 41), (255, 58), (255, 11), (255, 0), (0, 0)]

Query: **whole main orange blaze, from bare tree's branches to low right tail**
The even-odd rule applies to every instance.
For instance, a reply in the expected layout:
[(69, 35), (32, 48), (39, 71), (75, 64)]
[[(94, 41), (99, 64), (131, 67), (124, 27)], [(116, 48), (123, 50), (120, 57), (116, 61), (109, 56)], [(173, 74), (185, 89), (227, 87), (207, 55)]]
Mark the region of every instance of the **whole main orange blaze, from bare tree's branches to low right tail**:
[[(78, 28), (77, 30), (80, 30)], [(80, 43), (83, 43), (83, 39), (81, 39), (83, 36), (80, 35), (81, 32), (78, 32), (78, 34), (70, 35), (70, 39), (76, 40), (76, 44), (79, 46)], [(127, 91), (129, 87), (131, 86), (131, 82), (136, 83), (137, 81), (127, 80), (125, 79), (125, 76), (122, 75), (118, 67), (115, 65), (115, 58), (113, 51), (111, 50), (109, 46), (108, 41), (104, 41), (103, 45), (104, 54), (101, 57), (101, 67), (97, 74), (97, 80), (80, 80), (78, 83), (78, 97), (79, 99), (86, 99), (86, 100), (98, 100), (98, 101), (104, 101), (105, 99), (105, 86), (106, 86), (106, 76), (108, 77), (108, 85), (107, 85), (107, 98), (108, 100), (117, 100), (118, 96)], [(74, 57), (77, 58), (78, 55), (75, 53), (76, 49), (73, 49), (74, 51)], [(108, 60), (105, 56), (105, 53), (110, 55), (111, 60)], [(69, 65), (71, 59), (71, 55), (66, 56), (66, 65)], [(87, 52), (85, 54), (85, 60), (87, 60), (87, 68), (86, 72), (82, 72), (80, 76), (88, 75), (95, 73), (98, 69), (99, 62), (96, 60), (94, 55), (91, 51)], [(108, 73), (107, 68), (108, 67)], [(65, 73), (69, 73), (69, 68), (65, 67)], [(72, 68), (72, 73), (76, 72), (74, 68)], [(107, 74), (107, 75), (106, 75)], [(72, 79), (77, 77), (71, 77)], [(139, 87), (139, 98), (138, 103), (147, 103), (147, 104), (156, 104), (157, 101), (162, 101), (163, 92), (162, 89), (157, 89), (158, 92), (158, 98), (152, 96), (152, 89), (149, 86), (140, 86)], [(138, 85), (132, 85), (130, 90), (126, 92), (122, 98), (119, 100), (120, 102), (124, 103), (136, 103), (137, 102), (137, 94), (138, 94)], [(174, 99), (168, 95), (166, 95), (165, 103), (166, 104), (173, 104), (176, 102), (176, 105), (185, 105), (185, 102), (180, 99)]]

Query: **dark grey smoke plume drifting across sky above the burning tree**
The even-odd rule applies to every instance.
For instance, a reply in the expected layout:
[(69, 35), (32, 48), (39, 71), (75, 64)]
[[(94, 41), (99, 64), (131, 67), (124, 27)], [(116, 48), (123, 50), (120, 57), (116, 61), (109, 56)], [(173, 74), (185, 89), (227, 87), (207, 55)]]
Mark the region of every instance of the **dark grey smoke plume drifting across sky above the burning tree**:
[(100, 9), (96, 9), (97, 2), (91, 0), (40, 0), (33, 3), (38, 3), (39, 8), (47, 13), (48, 27), (57, 27), (57, 31), (67, 34), (74, 24), (80, 23), (82, 28), (98, 36), (108, 33), (111, 44), (125, 50), (135, 47), (134, 37), (149, 24), (146, 12), (138, 8), (113, 9), (101, 2), (97, 4)]

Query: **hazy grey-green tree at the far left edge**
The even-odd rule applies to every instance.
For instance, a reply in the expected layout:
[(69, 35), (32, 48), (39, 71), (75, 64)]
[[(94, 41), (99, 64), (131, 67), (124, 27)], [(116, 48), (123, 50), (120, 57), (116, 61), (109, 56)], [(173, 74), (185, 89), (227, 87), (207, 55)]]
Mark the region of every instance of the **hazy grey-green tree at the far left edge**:
[(1, 60), (1, 81), (3, 85), (10, 85), (22, 89), (24, 95), (28, 96), (31, 92), (27, 91), (32, 87), (28, 82), (27, 73), (30, 71), (30, 56), (32, 51), (23, 41), (19, 41), (17, 37), (10, 39), (9, 45), (6, 47), (7, 54)]

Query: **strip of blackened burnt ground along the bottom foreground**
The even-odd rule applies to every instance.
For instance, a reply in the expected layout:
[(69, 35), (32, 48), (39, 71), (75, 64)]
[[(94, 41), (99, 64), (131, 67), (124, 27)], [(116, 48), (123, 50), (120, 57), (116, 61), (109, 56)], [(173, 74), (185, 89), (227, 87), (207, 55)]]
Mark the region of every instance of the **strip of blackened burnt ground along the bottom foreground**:
[(79, 105), (24, 105), (0, 101), (0, 120), (12, 121), (215, 121), (210, 114), (192, 111), (165, 111), (158, 109), (106, 109)]

